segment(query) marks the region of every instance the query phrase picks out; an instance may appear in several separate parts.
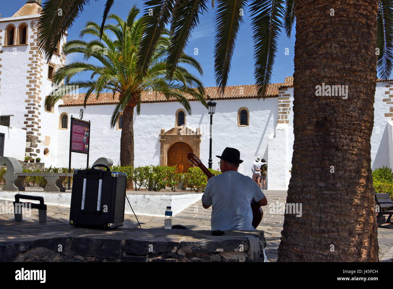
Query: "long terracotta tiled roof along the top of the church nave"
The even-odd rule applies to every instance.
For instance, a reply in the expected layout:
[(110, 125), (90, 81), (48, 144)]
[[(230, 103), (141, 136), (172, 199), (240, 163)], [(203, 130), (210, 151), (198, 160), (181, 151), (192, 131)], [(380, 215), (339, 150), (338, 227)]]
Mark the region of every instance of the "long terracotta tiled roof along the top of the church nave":
[[(283, 83), (272, 83), (268, 87), (268, 91), (266, 94), (267, 98), (274, 98), (278, 95), (279, 86), (283, 85)], [(225, 88), (224, 96), (217, 93), (217, 87), (205, 87), (207, 99), (243, 99), (243, 98), (257, 98), (257, 87), (256, 85), (235, 85), (235, 86), (227, 86)], [(81, 106), (83, 105), (85, 94), (73, 94), (67, 95), (63, 97), (63, 104), (59, 105), (61, 107), (64, 106)], [(195, 98), (191, 96), (187, 97), (189, 101), (195, 101)], [(89, 99), (87, 100), (86, 105), (109, 105), (116, 104), (119, 101), (119, 94), (116, 93), (113, 98), (113, 93), (100, 93), (99, 98), (95, 98), (95, 94), (91, 94)], [(153, 92), (149, 94), (149, 92), (143, 92), (141, 94), (141, 102), (142, 103), (154, 103), (154, 102), (168, 102), (168, 101), (176, 101), (176, 100), (167, 100), (165, 96), (162, 94), (156, 94)]]

